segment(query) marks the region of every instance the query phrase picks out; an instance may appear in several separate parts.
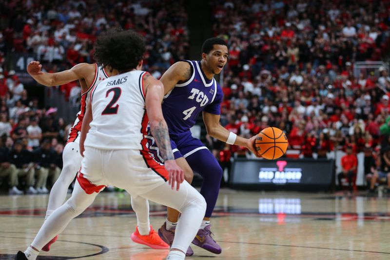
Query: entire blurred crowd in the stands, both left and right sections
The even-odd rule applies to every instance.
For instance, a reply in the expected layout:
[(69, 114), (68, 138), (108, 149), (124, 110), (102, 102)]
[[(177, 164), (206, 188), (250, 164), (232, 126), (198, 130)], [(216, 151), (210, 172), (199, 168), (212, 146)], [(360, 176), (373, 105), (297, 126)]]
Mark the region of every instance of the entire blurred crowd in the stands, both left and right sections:
[[(390, 1), (209, 3), (214, 35), (230, 45), (220, 76), (221, 124), (243, 137), (279, 127), (288, 135), (287, 156), (292, 157), (329, 158), (335, 150), (351, 147), (352, 154), (364, 153), (365, 173), (372, 176), (377, 158), (390, 148)], [(39, 162), (24, 169), (29, 173), (33, 168), (35, 179), (44, 179), (39, 186), (26, 178), (27, 189), (34, 183), (35, 191), (46, 192), (44, 176), (56, 179), (70, 122), (58, 119), (56, 108), (30, 100), (4, 59), (11, 52), (35, 53), (49, 72), (94, 62), (94, 40), (115, 27), (145, 37), (144, 69), (156, 78), (188, 58), (187, 14), (180, 1), (0, 0), (1, 147), (11, 153), (17, 146), (13, 142), (20, 141), (37, 161), (37, 147), (48, 145), (56, 158), (44, 167), (47, 174), (37, 170)], [(354, 72), (356, 61), (381, 60), (381, 66)], [(68, 97), (76, 84), (61, 90)], [(234, 156), (251, 156), (245, 148), (210, 137), (206, 141), (223, 167)], [(0, 166), (1, 177), (5, 166)], [(17, 185), (14, 181), (11, 188)]]

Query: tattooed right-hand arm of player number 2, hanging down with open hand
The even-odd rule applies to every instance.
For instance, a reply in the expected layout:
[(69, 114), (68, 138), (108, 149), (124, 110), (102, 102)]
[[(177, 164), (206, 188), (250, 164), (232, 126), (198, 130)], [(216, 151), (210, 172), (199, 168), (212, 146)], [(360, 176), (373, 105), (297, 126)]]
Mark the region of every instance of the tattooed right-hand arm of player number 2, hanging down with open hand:
[(180, 183), (184, 181), (184, 172), (176, 164), (169, 139), (168, 126), (162, 115), (161, 101), (164, 97), (164, 85), (150, 74), (146, 74), (143, 80), (146, 88), (145, 106), (149, 117), (150, 130), (156, 140), (160, 155), (164, 159), (165, 168), (169, 173), (169, 184), (172, 189), (175, 188), (176, 184), (176, 190), (179, 190)]

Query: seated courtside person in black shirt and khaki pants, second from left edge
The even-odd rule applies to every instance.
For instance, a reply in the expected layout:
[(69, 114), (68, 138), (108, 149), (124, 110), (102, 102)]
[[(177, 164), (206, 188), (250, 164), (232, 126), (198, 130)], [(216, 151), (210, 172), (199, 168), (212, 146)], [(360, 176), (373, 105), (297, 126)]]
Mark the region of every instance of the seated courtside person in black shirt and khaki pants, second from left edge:
[[(16, 166), (18, 176), (26, 176), (26, 194), (37, 194), (37, 190), (33, 187), (35, 175), (34, 156), (30, 151), (23, 149), (21, 140), (15, 141), (10, 160)], [(43, 178), (44, 176), (40, 174), (37, 183), (42, 181)]]

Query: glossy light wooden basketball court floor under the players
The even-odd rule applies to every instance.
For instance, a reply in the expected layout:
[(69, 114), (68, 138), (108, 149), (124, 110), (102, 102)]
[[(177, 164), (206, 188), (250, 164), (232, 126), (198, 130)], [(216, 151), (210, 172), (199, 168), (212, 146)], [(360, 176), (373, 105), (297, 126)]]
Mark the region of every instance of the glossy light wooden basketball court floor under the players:
[[(13, 259), (33, 240), (47, 200), (47, 195), (0, 196), (0, 259)], [(364, 194), (221, 190), (212, 231), (222, 254), (192, 245), (195, 254), (186, 259), (390, 259), (389, 209), (387, 197)], [(164, 220), (165, 208), (151, 202), (154, 228)], [(130, 240), (136, 223), (128, 194), (101, 193), (38, 259), (165, 259), (168, 250)]]

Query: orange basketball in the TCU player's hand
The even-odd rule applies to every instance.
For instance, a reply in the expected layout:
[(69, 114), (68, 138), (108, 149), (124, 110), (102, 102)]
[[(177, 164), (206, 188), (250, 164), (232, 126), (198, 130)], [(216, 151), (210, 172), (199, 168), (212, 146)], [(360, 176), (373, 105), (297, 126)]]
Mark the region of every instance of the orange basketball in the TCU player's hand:
[(284, 155), (289, 142), (282, 130), (276, 127), (267, 127), (257, 134), (255, 145), (259, 156), (273, 160)]

